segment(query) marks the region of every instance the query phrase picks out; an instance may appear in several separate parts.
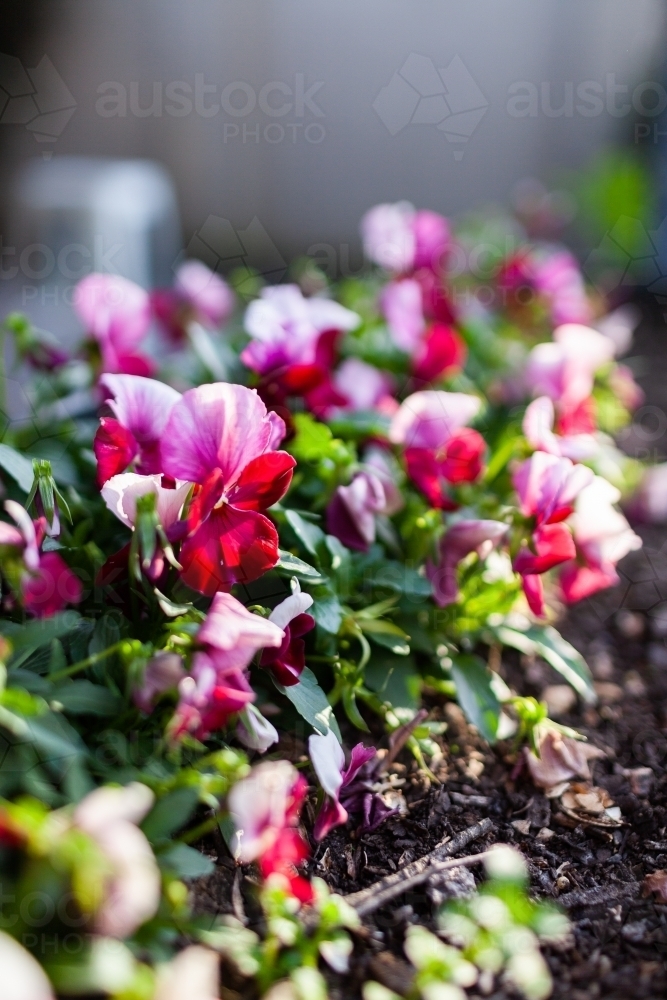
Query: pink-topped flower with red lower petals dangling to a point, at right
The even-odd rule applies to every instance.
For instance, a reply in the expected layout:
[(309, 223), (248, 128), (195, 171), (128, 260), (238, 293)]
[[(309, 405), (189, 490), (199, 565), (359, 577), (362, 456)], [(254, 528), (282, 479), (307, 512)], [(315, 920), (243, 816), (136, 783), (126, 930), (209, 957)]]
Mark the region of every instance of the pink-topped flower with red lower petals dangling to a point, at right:
[(574, 511), (577, 496), (593, 479), (584, 465), (536, 451), (514, 473), (521, 513), (532, 519), (530, 539), (514, 558), (521, 574), (528, 605), (536, 615), (544, 614), (540, 575), (575, 556), (570, 528), (563, 522)]

